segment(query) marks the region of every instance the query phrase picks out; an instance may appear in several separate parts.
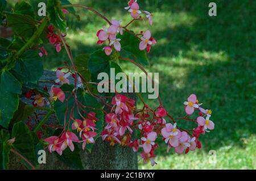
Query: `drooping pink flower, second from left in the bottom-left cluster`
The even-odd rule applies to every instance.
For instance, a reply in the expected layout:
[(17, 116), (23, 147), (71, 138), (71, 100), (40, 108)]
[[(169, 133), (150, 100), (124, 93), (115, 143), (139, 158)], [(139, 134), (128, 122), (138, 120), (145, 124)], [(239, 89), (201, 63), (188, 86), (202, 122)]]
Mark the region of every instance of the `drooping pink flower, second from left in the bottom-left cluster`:
[(75, 147), (73, 142), (79, 141), (79, 138), (73, 132), (64, 132), (61, 135), (60, 140), (64, 140), (61, 145), (61, 150), (65, 150), (68, 146), (71, 151), (74, 151)]

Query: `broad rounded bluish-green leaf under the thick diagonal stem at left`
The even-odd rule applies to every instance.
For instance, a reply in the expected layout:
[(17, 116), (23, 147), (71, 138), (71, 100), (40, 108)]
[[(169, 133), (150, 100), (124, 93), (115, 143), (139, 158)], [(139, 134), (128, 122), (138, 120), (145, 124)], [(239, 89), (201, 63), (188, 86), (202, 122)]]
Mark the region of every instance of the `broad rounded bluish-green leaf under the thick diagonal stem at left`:
[(20, 81), (36, 82), (43, 75), (43, 61), (35, 50), (27, 50), (16, 61), (14, 69)]

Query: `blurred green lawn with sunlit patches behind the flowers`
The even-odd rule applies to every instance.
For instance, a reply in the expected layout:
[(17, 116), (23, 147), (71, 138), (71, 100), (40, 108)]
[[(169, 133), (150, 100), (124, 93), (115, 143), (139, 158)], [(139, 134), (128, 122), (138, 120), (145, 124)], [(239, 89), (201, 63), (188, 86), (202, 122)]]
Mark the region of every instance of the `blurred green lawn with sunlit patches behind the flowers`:
[[(131, 19), (123, 9), (126, 0), (71, 2), (93, 7), (109, 19), (122, 19), (123, 24)], [(148, 54), (150, 66), (146, 70), (159, 72), (164, 106), (171, 115), (183, 116), (184, 100), (195, 93), (204, 108), (213, 110), (211, 118), (216, 125), (214, 131), (201, 137), (202, 148), (188, 154), (166, 153), (166, 144), (159, 140), (158, 165), (144, 165), (139, 159), (139, 169), (256, 169), (256, 1), (215, 0), (217, 16), (213, 17), (208, 16), (209, 2), (138, 1), (142, 10), (154, 14), (154, 23), (150, 27), (147, 20), (136, 22), (130, 29), (148, 29), (158, 40)], [(92, 12), (76, 11), (80, 21), (69, 15), (66, 37), (74, 56), (101, 48), (96, 45), (96, 32), (106, 26)], [(47, 50), (46, 69), (56, 70), (68, 61), (64, 50), (59, 54), (51, 46)], [(120, 63), (126, 72), (141, 72), (131, 64)], [(158, 106), (156, 100), (148, 103)], [(216, 164), (209, 163), (209, 150), (217, 151)]]

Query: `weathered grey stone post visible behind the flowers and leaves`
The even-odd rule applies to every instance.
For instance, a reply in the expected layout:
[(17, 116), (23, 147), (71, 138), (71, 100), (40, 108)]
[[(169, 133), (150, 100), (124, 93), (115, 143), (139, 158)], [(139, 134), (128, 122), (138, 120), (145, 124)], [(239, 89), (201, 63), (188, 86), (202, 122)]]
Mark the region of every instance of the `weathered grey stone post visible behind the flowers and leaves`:
[[(44, 71), (42, 79), (49, 81), (55, 79), (55, 72)], [(40, 84), (42, 87), (46, 85), (49, 87), (51, 84)], [(131, 99), (136, 99), (135, 94), (127, 94), (127, 96)], [(102, 141), (101, 138), (98, 138), (96, 141), (92, 148), (92, 153), (81, 149), (80, 157), (85, 169), (138, 169), (137, 153), (134, 153), (134, 151), (127, 146), (110, 146), (109, 142)], [(24, 166), (20, 165), (19, 161), (16, 155), (11, 154), (10, 169), (24, 169)], [(61, 162), (55, 154), (51, 154), (47, 151), (47, 163), (41, 164), (39, 169), (71, 168)]]

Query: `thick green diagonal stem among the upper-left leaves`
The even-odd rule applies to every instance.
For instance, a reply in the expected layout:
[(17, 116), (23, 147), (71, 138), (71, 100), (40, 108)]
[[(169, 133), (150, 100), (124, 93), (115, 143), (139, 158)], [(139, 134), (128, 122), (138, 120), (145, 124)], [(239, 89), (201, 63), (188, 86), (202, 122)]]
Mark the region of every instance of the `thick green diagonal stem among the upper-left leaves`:
[(14, 57), (19, 57), (20, 55), (22, 55), (27, 48), (29, 48), (32, 43), (34, 43), (34, 41), (41, 35), (41, 33), (43, 32), (44, 28), (46, 27), (46, 23), (47, 23), (47, 19), (44, 18), (42, 24), (40, 24), (40, 26), (38, 27), (38, 29), (35, 31), (34, 35), (31, 36), (31, 38), (27, 41), (26, 44), (24, 44), (24, 46), (19, 49), (19, 51), (15, 54)]

